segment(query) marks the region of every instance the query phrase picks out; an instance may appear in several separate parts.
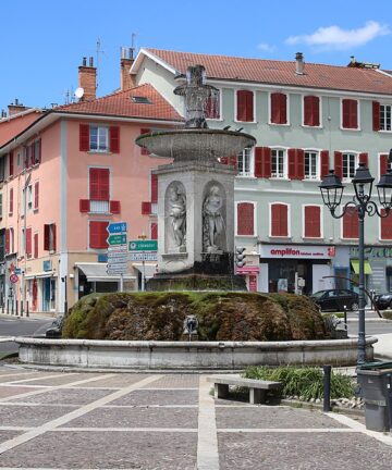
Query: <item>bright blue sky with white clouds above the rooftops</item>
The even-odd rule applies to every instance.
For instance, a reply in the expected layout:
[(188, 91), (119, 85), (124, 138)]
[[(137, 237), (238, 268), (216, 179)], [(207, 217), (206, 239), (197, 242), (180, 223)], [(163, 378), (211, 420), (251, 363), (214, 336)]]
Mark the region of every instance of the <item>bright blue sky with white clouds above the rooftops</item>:
[(120, 83), (120, 47), (392, 70), (391, 0), (1, 0), (0, 109), (65, 102), (84, 55), (97, 57), (98, 96)]

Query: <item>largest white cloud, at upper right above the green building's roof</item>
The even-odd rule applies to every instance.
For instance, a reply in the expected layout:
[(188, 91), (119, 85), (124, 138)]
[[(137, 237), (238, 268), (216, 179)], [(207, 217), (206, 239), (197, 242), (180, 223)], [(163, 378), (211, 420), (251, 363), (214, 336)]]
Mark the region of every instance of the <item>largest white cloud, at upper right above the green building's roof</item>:
[(290, 36), (285, 42), (289, 45), (305, 44), (316, 46), (322, 50), (344, 50), (364, 46), (378, 36), (391, 34), (387, 25), (375, 21), (366, 22), (357, 29), (342, 29), (339, 26), (319, 27), (311, 35)]

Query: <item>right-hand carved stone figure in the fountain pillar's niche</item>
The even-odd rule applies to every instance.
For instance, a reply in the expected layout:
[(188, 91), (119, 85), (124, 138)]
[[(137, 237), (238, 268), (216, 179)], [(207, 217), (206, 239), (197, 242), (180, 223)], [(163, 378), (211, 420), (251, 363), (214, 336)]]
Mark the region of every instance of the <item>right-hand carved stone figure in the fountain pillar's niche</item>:
[(221, 249), (217, 245), (217, 237), (223, 232), (222, 205), (219, 186), (211, 186), (203, 203), (203, 239), (207, 252)]

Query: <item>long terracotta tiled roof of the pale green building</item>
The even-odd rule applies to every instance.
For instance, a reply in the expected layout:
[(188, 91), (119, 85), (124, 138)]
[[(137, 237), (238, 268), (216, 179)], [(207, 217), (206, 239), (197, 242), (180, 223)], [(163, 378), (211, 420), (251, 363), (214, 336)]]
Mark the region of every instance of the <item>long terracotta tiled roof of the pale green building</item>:
[(234, 82), (254, 82), (335, 90), (392, 94), (392, 77), (372, 69), (355, 69), (338, 65), (306, 63), (305, 74), (295, 73), (295, 61), (245, 59), (146, 49), (180, 73), (188, 65), (201, 64), (209, 78)]

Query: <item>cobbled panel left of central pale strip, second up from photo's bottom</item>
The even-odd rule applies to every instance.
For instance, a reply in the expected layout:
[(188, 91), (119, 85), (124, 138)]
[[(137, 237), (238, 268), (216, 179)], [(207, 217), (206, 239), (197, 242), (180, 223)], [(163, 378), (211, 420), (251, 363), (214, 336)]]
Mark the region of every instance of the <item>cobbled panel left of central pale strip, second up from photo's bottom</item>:
[(100, 408), (65, 428), (197, 428), (197, 408)]

